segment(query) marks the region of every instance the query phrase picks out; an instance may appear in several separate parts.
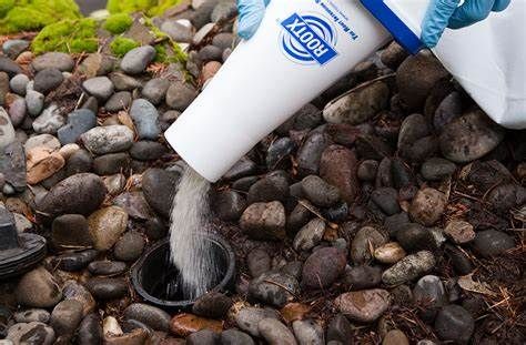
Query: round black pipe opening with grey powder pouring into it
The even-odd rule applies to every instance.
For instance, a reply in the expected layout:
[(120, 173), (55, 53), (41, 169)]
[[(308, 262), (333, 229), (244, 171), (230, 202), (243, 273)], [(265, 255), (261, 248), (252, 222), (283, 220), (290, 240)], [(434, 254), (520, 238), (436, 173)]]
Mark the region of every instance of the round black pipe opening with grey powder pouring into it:
[[(212, 244), (220, 277), (213, 292), (226, 292), (234, 285), (235, 256), (230, 244), (216, 234), (206, 233)], [(190, 308), (195, 300), (185, 300), (179, 288), (179, 270), (170, 261), (170, 242), (162, 240), (148, 250), (133, 266), (132, 284), (142, 298), (166, 311)]]

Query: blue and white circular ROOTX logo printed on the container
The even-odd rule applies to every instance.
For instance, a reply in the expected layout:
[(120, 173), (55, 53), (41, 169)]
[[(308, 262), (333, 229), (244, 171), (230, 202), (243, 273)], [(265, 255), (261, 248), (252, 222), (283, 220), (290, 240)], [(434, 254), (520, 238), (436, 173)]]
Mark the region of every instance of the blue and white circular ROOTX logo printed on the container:
[(281, 44), (285, 54), (302, 64), (323, 65), (337, 55), (336, 30), (321, 16), (297, 13), (281, 22)]

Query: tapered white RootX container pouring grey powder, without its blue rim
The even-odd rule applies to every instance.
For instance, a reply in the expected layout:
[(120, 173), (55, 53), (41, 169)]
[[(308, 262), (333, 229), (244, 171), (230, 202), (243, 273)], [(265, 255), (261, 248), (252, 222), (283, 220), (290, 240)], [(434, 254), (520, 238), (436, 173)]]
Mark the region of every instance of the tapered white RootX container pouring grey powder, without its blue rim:
[(164, 136), (218, 181), (262, 138), (390, 40), (358, 0), (273, 0)]

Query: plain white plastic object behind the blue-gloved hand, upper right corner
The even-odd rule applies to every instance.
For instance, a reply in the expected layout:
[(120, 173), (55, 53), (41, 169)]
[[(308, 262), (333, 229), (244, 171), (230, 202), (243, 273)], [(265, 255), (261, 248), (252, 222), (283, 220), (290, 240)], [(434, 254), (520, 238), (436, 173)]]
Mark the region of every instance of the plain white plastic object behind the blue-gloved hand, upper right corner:
[[(428, 1), (385, 0), (418, 37)], [(474, 26), (446, 30), (433, 52), (497, 123), (526, 129), (526, 1)]]

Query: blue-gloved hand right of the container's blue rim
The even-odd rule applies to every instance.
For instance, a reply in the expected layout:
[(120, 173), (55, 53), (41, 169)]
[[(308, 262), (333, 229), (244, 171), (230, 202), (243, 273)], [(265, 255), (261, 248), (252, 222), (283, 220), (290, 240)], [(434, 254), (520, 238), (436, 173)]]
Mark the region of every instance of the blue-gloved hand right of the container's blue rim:
[(504, 11), (512, 0), (432, 0), (422, 24), (422, 42), (433, 48), (446, 28), (461, 29)]

